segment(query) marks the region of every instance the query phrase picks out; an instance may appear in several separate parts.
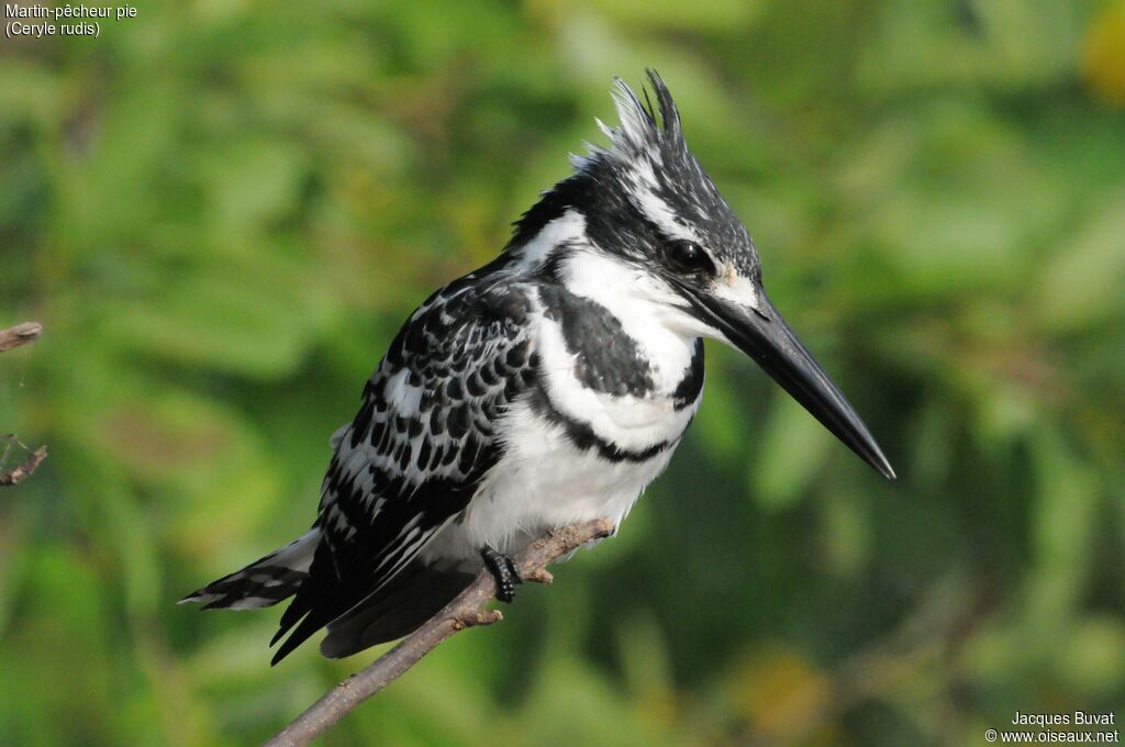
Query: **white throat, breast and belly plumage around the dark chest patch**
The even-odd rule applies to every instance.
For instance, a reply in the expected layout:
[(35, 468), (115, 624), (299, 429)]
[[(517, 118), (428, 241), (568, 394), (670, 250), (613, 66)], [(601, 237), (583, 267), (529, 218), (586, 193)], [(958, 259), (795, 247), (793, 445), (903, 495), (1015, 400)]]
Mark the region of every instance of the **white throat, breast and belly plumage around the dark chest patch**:
[(648, 360), (655, 390), (642, 397), (614, 396), (583, 386), (558, 323), (540, 308), (531, 321), (550, 405), (622, 450), (668, 447), (644, 461), (613, 461), (597, 449), (576, 448), (565, 426), (539, 414), (530, 397), (518, 400), (497, 424), (504, 456), (464, 514), (423, 549), (425, 562), (468, 569), (479, 567), (486, 544), (513, 554), (554, 526), (602, 518), (620, 524), (667, 467), (695, 415), (698, 400), (676, 410), (673, 392), (691, 366), (699, 330), (675, 310), (670, 289), (597, 252), (574, 254), (562, 274), (570, 292), (597, 302), (620, 321)]

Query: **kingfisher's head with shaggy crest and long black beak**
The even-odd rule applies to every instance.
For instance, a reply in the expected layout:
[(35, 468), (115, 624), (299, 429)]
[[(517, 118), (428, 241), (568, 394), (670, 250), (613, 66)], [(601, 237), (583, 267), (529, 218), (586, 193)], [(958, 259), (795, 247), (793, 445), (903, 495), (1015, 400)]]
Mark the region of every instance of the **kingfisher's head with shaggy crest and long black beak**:
[[(516, 223), (508, 251), (565, 277), (588, 268), (598, 295), (628, 297), (685, 336), (721, 340), (753, 358), (872, 467), (894, 470), (867, 428), (766, 297), (746, 227), (687, 148), (672, 94), (655, 71), (656, 106), (620, 79), (610, 147), (572, 156), (575, 173)], [(578, 270), (580, 271), (580, 270)], [(587, 287), (591, 278), (586, 279)]]

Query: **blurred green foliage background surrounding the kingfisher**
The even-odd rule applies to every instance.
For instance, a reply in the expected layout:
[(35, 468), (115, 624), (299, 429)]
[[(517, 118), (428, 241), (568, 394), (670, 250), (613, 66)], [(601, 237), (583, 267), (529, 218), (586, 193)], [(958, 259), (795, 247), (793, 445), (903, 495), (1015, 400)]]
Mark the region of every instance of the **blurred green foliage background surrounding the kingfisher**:
[[(0, 40), (0, 742), (241, 745), (370, 660), (181, 594), (313, 519), (431, 289), (668, 81), (897, 466), (748, 360), (616, 539), (327, 745), (973, 745), (1125, 694), (1125, 4), (142, 3)], [(18, 457), (9, 457), (9, 464)], [(1118, 710), (1118, 717), (1125, 712)]]

